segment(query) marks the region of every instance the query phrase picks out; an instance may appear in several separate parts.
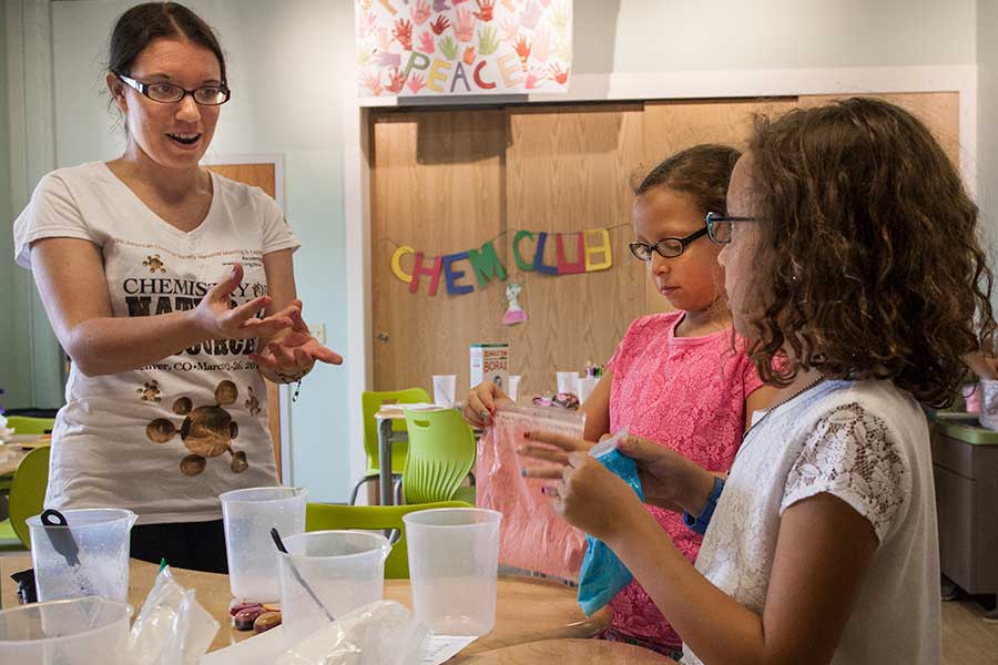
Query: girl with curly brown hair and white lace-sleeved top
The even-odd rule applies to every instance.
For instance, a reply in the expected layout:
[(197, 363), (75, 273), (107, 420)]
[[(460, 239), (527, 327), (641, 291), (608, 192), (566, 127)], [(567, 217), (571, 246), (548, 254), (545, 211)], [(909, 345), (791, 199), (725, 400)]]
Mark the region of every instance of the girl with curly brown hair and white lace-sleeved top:
[(645, 501), (709, 524), (695, 567), (591, 443), (530, 432), (525, 453), (564, 466), (532, 473), (558, 479), (556, 510), (648, 590), (683, 663), (937, 664), (921, 405), (951, 400), (965, 356), (994, 354), (977, 208), (925, 125), (869, 99), (760, 120), (727, 204), (707, 224), (774, 406), (725, 481), (649, 441), (621, 446)]

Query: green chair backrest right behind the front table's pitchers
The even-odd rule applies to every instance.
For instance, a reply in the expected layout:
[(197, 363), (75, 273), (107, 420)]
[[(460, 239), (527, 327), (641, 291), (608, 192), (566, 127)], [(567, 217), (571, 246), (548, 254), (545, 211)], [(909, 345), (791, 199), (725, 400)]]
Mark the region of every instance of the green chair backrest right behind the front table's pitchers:
[(406, 526), (403, 515), (431, 508), (471, 508), (460, 501), (442, 501), (429, 505), (339, 505), (308, 503), (305, 507), (305, 531), (327, 529), (398, 529), (401, 539), (385, 560), (385, 577), (405, 580), (409, 576), (409, 557), (406, 551)]

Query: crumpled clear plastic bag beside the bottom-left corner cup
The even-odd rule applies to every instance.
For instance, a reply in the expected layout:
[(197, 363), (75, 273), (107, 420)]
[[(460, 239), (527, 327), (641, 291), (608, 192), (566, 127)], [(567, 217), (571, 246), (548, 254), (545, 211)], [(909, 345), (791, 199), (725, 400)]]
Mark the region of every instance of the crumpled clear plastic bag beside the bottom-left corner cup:
[(165, 566), (156, 575), (129, 638), (135, 665), (195, 665), (218, 632), (218, 622)]

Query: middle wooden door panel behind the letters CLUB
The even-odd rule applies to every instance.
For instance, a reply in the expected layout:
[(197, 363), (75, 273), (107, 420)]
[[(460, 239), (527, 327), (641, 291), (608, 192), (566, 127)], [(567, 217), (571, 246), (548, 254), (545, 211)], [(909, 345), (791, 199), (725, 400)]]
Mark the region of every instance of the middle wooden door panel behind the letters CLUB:
[[(510, 228), (551, 233), (546, 265), (557, 265), (553, 234), (607, 228), (612, 267), (547, 276), (510, 264), (522, 284), (520, 304), (530, 317), (509, 328), (510, 371), (520, 392), (556, 387), (556, 372), (607, 362), (628, 325), (644, 314), (644, 264), (631, 242), (630, 180), (644, 161), (643, 104), (520, 106), (508, 111), (506, 202)], [(570, 242), (566, 242), (570, 245)], [(532, 249), (533, 242), (523, 246)], [(567, 246), (569, 262), (577, 248)]]

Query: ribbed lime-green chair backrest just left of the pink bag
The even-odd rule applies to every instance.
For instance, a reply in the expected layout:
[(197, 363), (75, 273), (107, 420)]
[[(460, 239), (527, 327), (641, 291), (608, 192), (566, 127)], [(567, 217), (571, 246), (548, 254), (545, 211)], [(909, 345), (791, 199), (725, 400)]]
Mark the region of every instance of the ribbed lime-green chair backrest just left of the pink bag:
[(403, 471), (406, 503), (450, 501), (475, 466), (475, 434), (455, 409), (406, 409), (409, 456)]

